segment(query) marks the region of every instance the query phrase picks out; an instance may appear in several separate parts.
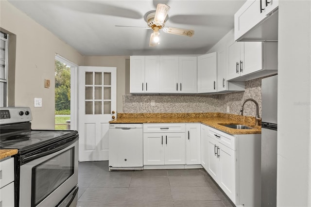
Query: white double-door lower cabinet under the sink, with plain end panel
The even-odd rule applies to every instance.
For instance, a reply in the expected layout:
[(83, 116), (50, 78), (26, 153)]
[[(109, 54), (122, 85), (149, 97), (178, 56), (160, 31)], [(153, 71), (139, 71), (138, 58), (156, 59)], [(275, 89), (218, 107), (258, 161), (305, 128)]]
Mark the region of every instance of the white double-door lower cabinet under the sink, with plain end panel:
[(207, 173), (236, 206), (260, 206), (261, 135), (229, 135), (207, 127)]

